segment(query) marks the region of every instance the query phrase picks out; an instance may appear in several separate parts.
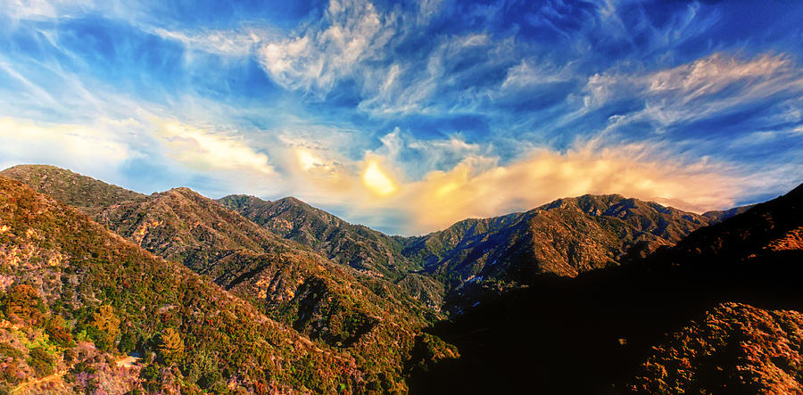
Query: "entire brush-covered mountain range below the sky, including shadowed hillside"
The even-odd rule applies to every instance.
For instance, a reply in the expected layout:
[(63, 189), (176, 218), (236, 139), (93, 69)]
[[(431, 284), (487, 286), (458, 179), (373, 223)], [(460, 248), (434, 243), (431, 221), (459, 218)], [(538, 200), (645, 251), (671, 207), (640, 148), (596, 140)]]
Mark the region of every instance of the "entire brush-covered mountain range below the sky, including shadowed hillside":
[(704, 214), (584, 195), (402, 237), (294, 198), (144, 195), (42, 165), (0, 181), (10, 390), (803, 385), (801, 187)]

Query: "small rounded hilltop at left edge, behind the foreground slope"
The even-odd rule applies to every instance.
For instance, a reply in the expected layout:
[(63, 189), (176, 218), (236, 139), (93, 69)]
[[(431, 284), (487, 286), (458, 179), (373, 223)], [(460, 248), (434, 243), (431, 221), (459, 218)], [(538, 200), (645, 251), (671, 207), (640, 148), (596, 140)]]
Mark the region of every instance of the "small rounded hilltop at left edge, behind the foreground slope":
[(0, 176), (20, 181), (34, 191), (53, 196), (89, 214), (120, 202), (137, 201), (145, 197), (142, 193), (49, 165), (18, 165), (0, 171)]

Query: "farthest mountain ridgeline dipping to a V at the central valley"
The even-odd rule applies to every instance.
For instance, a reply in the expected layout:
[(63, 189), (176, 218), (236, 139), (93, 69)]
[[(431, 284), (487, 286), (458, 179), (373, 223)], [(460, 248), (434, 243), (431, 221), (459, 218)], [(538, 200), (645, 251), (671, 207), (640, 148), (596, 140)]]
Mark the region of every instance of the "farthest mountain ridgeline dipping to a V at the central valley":
[[(434, 308), (443, 305), (443, 295), (464, 285), (507, 287), (532, 276), (576, 276), (643, 257), (731, 215), (700, 216), (621, 195), (584, 195), (525, 213), (466, 219), (425, 236), (399, 237), (349, 224), (294, 198), (268, 202), (230, 195), (219, 202), (329, 259), (392, 279)], [(450, 299), (473, 303), (465, 293)]]

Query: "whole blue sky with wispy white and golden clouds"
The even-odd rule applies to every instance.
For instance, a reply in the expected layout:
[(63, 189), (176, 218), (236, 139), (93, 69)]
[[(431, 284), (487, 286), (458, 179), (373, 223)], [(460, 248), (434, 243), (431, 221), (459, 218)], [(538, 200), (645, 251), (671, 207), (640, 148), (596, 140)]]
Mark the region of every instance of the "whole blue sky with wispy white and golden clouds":
[(0, 168), (389, 234), (803, 182), (803, 2), (0, 0)]

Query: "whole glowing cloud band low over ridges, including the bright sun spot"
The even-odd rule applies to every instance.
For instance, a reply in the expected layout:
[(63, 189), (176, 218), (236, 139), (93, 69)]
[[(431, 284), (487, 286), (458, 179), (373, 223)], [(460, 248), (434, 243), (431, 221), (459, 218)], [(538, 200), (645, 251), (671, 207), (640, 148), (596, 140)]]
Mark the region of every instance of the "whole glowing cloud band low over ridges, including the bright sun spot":
[[(348, 220), (391, 233), (421, 235), (464, 218), (530, 210), (560, 197), (621, 193), (682, 210), (732, 207), (761, 181), (714, 160), (673, 158), (659, 146), (592, 140), (567, 152), (533, 149), (501, 164), (457, 137), (417, 141), (401, 131), (362, 160), (331, 160), (308, 148), (289, 171), (294, 195), (332, 207)], [(459, 153), (458, 153), (459, 152)], [(665, 153), (661, 153), (665, 152)], [(443, 160), (440, 170), (410, 177), (405, 160), (418, 155)], [(439, 160), (435, 160), (437, 162)], [(371, 213), (374, 213), (373, 215)], [(381, 214), (380, 214), (381, 213)], [(401, 218), (401, 219), (400, 219)]]

